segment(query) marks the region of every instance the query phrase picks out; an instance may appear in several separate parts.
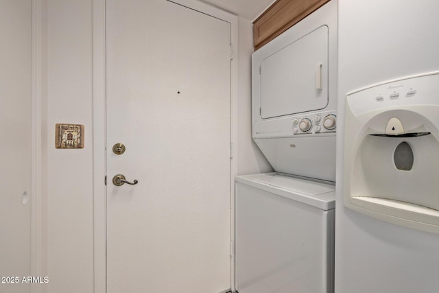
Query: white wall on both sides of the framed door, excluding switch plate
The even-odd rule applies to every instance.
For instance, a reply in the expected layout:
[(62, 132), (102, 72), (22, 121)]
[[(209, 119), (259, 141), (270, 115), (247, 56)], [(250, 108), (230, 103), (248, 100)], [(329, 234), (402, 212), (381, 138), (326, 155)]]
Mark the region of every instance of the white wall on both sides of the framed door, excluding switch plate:
[[(41, 270), (49, 277), (40, 292), (93, 292), (93, 196), (102, 196), (93, 194), (93, 1), (39, 2)], [(252, 24), (239, 19), (239, 174), (272, 170), (251, 139), (251, 53)], [(57, 123), (84, 124), (84, 149), (56, 149)]]

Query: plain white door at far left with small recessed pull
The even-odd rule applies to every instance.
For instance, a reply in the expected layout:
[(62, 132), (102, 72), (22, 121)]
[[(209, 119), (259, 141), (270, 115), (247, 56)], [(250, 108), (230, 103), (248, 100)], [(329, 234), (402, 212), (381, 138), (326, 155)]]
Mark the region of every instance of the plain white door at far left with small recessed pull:
[(0, 292), (31, 275), (31, 7), (0, 1)]

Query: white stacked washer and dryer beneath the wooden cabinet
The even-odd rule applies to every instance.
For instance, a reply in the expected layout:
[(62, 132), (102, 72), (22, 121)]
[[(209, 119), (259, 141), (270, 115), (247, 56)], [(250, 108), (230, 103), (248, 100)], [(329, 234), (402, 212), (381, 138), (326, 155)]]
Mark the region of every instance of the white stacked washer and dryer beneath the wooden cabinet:
[(238, 176), (239, 293), (333, 292), (337, 1), (252, 55), (252, 137), (276, 172)]

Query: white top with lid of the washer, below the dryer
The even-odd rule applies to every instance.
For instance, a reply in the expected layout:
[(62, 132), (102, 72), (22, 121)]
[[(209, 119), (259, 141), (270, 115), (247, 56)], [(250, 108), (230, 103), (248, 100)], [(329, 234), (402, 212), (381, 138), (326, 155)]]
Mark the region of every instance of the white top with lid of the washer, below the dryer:
[(325, 211), (335, 208), (335, 185), (279, 173), (237, 176), (236, 181)]

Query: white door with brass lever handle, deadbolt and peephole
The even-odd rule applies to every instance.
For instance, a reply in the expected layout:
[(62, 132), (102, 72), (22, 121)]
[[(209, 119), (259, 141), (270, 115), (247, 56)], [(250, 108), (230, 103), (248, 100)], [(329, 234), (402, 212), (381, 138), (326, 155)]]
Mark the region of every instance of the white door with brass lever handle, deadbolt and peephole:
[(106, 5), (108, 293), (227, 290), (230, 23), (166, 0)]

